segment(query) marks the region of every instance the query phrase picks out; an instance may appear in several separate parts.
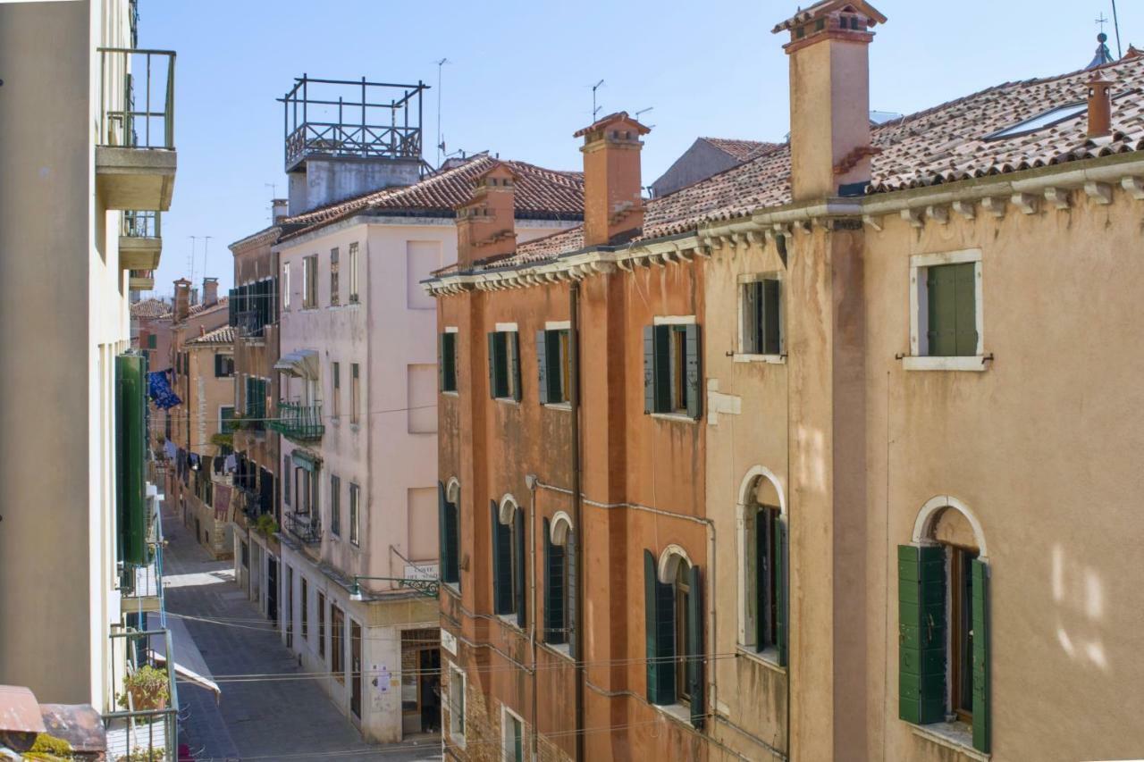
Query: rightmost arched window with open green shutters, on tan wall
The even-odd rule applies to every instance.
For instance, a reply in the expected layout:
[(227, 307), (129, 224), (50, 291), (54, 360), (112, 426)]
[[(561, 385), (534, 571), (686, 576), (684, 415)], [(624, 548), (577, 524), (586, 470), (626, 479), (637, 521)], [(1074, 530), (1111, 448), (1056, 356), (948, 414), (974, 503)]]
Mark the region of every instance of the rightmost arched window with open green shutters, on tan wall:
[(899, 716), (953, 720), (990, 751), (988, 565), (980, 524), (948, 495), (919, 513), (898, 546)]

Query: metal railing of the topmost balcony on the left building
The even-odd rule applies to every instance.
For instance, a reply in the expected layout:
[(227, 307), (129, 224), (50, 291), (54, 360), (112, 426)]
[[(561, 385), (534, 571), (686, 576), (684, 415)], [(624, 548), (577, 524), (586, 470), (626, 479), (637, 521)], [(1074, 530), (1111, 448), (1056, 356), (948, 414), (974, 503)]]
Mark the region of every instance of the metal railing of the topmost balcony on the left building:
[(175, 51), (98, 50), (98, 144), (174, 150)]

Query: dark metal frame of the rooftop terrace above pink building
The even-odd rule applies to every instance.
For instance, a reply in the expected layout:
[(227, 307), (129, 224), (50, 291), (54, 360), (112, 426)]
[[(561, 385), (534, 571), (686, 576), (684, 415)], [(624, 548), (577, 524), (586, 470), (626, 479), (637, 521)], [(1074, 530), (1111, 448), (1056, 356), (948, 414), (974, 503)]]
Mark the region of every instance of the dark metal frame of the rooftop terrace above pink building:
[(399, 85), (371, 82), (365, 77), (295, 77), (294, 87), (278, 98), (283, 104), (286, 172), (311, 158), (422, 161), (422, 98), (428, 89), (420, 80)]

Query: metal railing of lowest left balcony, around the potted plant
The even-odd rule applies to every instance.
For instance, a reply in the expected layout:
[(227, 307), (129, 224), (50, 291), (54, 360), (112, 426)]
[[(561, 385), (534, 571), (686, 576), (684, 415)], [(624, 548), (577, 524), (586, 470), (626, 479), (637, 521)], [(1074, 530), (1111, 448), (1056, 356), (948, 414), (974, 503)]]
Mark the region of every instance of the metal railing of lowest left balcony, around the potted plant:
[[(175, 684), (175, 650), (167, 629), (127, 630), (111, 634), (111, 706), (103, 715), (109, 760), (178, 759), (178, 693)], [(133, 676), (144, 668), (166, 672), (166, 698), (148, 701), (130, 690)], [(149, 704), (144, 706), (144, 704)]]

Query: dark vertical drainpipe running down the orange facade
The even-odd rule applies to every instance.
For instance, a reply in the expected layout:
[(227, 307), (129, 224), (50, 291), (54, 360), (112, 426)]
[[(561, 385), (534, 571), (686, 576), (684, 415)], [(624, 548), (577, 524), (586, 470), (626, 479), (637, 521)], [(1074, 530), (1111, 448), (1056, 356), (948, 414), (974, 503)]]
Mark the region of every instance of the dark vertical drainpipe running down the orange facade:
[(573, 617), (575, 624), (573, 635), (575, 649), (572, 658), (575, 660), (575, 760), (585, 762), (583, 738), (583, 681), (585, 681), (585, 638), (583, 638), (583, 543), (585, 531), (580, 494), (580, 284), (573, 280), (569, 284), (569, 406), (572, 426), (572, 525), (575, 542), (572, 545), (572, 557), (575, 563), (575, 598)]

